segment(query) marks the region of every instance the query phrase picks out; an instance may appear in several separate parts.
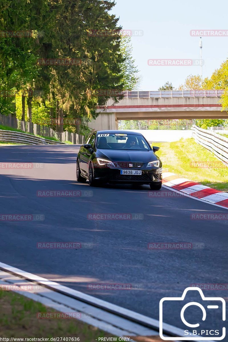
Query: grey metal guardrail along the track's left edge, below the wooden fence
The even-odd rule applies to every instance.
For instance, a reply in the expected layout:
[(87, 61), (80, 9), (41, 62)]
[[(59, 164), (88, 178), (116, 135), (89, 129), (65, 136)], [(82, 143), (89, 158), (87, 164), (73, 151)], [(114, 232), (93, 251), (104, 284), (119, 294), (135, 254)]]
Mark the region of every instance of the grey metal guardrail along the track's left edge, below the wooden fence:
[(0, 141), (8, 143), (24, 143), (27, 145), (65, 145), (65, 143), (61, 143), (60, 141), (44, 139), (28, 133), (6, 130), (0, 130)]

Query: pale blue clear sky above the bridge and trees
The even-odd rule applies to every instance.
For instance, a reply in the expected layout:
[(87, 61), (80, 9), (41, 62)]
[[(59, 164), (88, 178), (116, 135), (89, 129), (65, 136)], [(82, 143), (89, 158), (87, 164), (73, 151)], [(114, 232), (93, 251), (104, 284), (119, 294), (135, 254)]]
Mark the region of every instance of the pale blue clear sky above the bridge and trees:
[[(200, 59), (199, 37), (191, 30), (225, 30), (223, 37), (202, 37), (203, 78), (228, 57), (228, 1), (116, 0), (112, 9), (124, 30), (132, 35), (133, 57), (139, 70), (137, 90), (158, 90), (166, 81), (175, 88), (188, 75), (200, 75), (200, 66), (155, 66), (149, 59)], [(143, 34), (142, 34), (143, 31)]]

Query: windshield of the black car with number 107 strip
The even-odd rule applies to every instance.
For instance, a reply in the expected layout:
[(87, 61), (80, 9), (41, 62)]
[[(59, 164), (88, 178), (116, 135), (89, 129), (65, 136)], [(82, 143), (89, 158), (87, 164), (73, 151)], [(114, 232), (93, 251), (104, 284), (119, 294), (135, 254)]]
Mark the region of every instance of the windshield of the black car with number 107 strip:
[(150, 146), (142, 135), (121, 133), (98, 133), (97, 148), (149, 151)]

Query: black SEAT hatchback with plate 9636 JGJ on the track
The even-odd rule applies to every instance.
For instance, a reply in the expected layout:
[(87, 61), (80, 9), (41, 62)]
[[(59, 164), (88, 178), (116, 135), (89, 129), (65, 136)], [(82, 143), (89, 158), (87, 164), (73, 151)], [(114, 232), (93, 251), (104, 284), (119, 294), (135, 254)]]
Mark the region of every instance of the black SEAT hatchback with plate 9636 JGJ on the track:
[(76, 167), (78, 182), (90, 186), (104, 183), (148, 184), (153, 190), (162, 185), (159, 147), (132, 131), (95, 131), (81, 146)]

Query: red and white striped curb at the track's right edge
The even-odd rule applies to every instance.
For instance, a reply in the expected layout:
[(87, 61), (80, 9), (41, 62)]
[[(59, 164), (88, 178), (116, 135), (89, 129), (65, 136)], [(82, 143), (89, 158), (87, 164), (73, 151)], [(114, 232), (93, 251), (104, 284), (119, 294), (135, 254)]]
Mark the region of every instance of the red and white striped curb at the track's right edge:
[(162, 184), (188, 196), (228, 208), (228, 193), (180, 178), (174, 173), (163, 172)]

